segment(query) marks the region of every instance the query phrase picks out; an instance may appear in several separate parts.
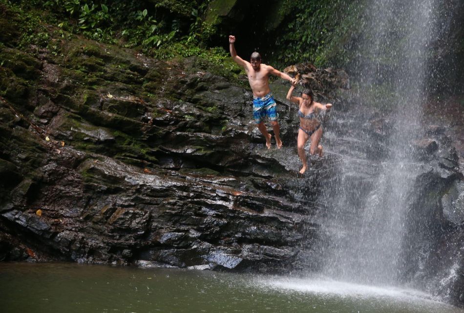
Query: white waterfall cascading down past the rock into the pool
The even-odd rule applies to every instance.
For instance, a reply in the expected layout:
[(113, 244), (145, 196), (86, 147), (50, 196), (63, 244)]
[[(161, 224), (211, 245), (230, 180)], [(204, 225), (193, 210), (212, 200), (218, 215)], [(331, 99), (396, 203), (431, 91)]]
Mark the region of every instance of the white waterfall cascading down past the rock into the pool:
[[(327, 187), (327, 210), (320, 217), (322, 272), (337, 280), (395, 286), (401, 276), (406, 199), (415, 177), (409, 156), (422, 134), (426, 60), (440, 1), (368, 2), (356, 64), (359, 106), (381, 105), (387, 112), (389, 117), (378, 119), (388, 125), (388, 152), (377, 163), (355, 154), (342, 157), (340, 178)], [(362, 141), (363, 125), (355, 127), (359, 135), (352, 140)]]

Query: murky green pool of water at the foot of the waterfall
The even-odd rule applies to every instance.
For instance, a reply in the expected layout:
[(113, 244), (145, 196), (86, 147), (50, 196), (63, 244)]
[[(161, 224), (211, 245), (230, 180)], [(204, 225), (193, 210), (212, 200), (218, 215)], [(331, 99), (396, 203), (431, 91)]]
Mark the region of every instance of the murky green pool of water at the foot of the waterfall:
[(0, 312), (464, 313), (418, 291), (320, 278), (0, 263)]

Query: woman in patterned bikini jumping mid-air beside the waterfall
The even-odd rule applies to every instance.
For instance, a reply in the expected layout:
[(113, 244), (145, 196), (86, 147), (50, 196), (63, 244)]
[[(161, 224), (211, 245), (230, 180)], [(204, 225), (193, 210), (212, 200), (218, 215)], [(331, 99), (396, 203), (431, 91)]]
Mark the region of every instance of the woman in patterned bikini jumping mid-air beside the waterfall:
[(296, 83), (292, 84), (292, 87), (288, 90), (287, 99), (295, 102), (299, 107), (298, 116), (300, 118), (300, 126), (298, 129), (297, 148), (298, 156), (300, 157), (301, 162), (303, 162), (303, 167), (299, 172), (300, 174), (303, 174), (308, 167), (306, 155), (304, 153), (304, 144), (308, 141), (308, 139), (311, 138), (309, 153), (311, 155), (315, 155), (317, 153), (319, 156), (322, 156), (322, 146), (319, 145), (320, 137), (322, 137), (322, 126), (316, 118), (315, 110), (330, 110), (330, 108), (332, 108), (332, 104), (328, 103), (323, 105), (318, 102), (314, 102), (313, 91), (311, 89), (303, 90), (301, 98), (294, 97), (292, 96), (292, 93), (295, 86)]

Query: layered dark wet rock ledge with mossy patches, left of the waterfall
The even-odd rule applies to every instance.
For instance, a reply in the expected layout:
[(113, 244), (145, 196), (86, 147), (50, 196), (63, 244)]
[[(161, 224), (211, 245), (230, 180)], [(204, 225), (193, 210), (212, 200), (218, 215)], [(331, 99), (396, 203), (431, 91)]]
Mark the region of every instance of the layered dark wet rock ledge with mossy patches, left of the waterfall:
[(287, 84), (273, 87), (284, 147), (267, 150), (228, 70), (54, 41), (58, 55), (0, 47), (0, 261), (316, 266), (312, 216), (334, 160), (298, 177)]

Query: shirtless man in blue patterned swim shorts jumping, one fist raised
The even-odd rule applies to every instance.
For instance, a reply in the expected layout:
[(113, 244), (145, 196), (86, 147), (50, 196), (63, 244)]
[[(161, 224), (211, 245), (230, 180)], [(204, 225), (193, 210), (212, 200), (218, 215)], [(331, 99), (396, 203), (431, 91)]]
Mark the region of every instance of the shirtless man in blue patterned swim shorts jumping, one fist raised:
[(277, 122), (277, 112), (275, 109), (275, 101), (269, 88), (269, 74), (278, 76), (280, 78), (295, 83), (295, 79), (289, 75), (276, 70), (269, 65), (261, 64), (261, 55), (258, 52), (253, 52), (250, 62), (240, 58), (235, 51), (235, 36), (229, 36), (229, 48), (233, 61), (239, 66), (245, 68), (248, 76), (248, 82), (253, 91), (253, 118), (258, 126), (259, 131), (266, 139), (266, 146), (271, 148), (271, 134), (268, 133), (264, 125), (264, 118), (266, 116), (271, 120), (271, 125), (274, 130), (275, 144), (277, 148), (282, 147), (282, 140), (280, 140), (280, 127)]

